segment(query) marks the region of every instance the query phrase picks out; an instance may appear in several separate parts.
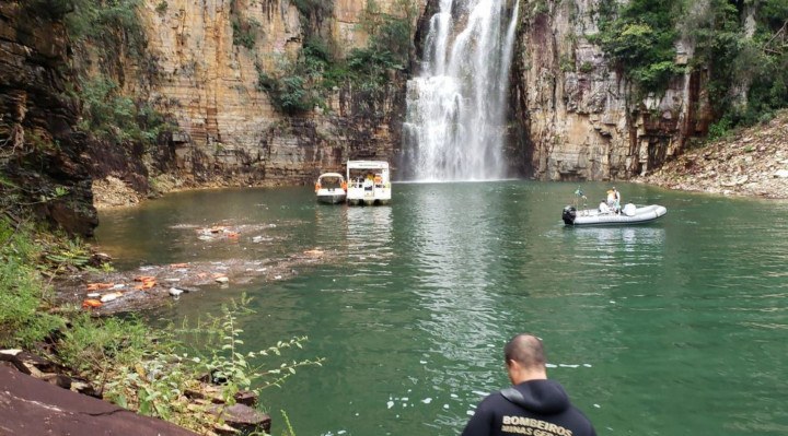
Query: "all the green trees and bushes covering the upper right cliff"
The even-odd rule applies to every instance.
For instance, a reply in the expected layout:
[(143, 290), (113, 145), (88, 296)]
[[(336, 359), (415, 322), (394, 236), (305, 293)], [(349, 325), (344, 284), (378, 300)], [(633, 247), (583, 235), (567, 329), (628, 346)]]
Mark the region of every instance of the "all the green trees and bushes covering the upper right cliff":
[[(685, 69), (708, 70), (718, 119), (711, 137), (788, 106), (788, 0), (710, 0), (703, 8), (688, 0), (605, 0), (598, 16), (600, 34), (590, 39), (634, 85), (636, 101), (664, 92)], [(686, 67), (675, 62), (680, 37), (695, 45)]]

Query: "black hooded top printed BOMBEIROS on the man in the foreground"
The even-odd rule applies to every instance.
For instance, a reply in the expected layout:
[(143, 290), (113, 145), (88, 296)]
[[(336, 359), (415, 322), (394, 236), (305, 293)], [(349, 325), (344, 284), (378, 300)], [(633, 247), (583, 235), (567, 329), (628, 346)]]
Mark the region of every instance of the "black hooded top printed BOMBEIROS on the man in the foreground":
[(596, 436), (557, 381), (531, 380), (485, 398), (462, 436)]

